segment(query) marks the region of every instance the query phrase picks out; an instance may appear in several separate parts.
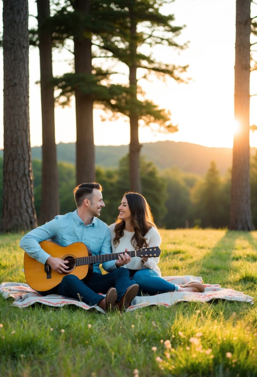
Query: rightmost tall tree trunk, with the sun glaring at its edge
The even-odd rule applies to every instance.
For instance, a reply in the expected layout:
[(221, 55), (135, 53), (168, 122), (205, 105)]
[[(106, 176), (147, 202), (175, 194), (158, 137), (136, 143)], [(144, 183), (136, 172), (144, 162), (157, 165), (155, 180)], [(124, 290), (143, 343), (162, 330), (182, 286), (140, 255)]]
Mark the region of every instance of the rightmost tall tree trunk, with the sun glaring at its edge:
[(239, 131), (234, 135), (231, 182), (231, 230), (253, 230), (249, 176), (250, 17), (251, 0), (236, 1), (236, 59), (234, 114)]

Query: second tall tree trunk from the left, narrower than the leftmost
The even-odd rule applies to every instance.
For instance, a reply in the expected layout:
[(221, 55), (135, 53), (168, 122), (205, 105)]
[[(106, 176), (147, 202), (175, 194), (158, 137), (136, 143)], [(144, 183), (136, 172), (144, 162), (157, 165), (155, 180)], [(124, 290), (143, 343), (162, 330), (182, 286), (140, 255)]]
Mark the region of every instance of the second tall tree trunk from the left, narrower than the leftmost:
[(38, 222), (44, 224), (60, 213), (57, 153), (55, 145), (52, 37), (44, 26), (50, 17), (49, 0), (37, 0), (42, 109), (42, 192)]

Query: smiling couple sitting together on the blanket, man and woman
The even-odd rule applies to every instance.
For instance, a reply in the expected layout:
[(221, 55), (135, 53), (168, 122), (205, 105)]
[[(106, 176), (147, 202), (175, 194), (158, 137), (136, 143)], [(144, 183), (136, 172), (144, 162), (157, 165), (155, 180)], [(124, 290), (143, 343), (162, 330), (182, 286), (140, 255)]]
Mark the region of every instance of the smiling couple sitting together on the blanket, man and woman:
[[(55, 293), (79, 298), (88, 305), (98, 305), (107, 312), (126, 310), (137, 294), (204, 291), (203, 286), (196, 282), (178, 286), (162, 279), (157, 266), (159, 257), (131, 258), (125, 252), (131, 247), (137, 250), (161, 244), (150, 207), (141, 194), (125, 193), (118, 207), (118, 218), (115, 224), (108, 227), (98, 219), (104, 207), (101, 185), (95, 182), (83, 183), (75, 187), (73, 192), (77, 210), (55, 216), (53, 220), (27, 233), (20, 241), (20, 247), (29, 256), (42, 264), (48, 264), (57, 273), (66, 273), (56, 287), (38, 293), (43, 296)], [(80, 280), (76, 275), (67, 273), (68, 261), (53, 257), (41, 248), (39, 243), (47, 239), (61, 246), (83, 242), (93, 256), (120, 254), (118, 259), (102, 263), (107, 274), (102, 274), (99, 263), (95, 263), (92, 277), (89, 280)], [(103, 298), (99, 292), (106, 296)]]

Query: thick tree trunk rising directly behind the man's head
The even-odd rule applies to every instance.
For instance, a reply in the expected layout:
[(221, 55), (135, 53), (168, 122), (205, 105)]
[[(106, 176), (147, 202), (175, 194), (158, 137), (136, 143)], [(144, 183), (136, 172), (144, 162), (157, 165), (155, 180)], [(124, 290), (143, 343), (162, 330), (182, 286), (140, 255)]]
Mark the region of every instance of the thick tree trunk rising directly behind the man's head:
[[(89, 0), (76, 0), (74, 8), (86, 14), (90, 12)], [(91, 35), (86, 29), (74, 37), (75, 73), (92, 74)], [(76, 99), (76, 182), (95, 181), (95, 146), (93, 134), (93, 98), (79, 88), (75, 90)]]

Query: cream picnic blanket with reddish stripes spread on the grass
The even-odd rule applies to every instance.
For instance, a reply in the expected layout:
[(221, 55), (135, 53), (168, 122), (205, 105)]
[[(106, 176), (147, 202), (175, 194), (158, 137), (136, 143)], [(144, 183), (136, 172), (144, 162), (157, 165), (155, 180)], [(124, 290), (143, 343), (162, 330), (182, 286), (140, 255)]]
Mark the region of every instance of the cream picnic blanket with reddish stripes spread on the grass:
[[(172, 282), (173, 284), (181, 285), (190, 281), (199, 282), (202, 284), (202, 278), (200, 276), (165, 276), (163, 279)], [(253, 297), (248, 296), (242, 292), (235, 291), (231, 288), (221, 288), (219, 284), (203, 284), (205, 291), (203, 293), (197, 292), (167, 292), (161, 294), (155, 294), (153, 296), (136, 296), (133, 299), (131, 306), (126, 310), (130, 312), (136, 309), (141, 309), (150, 305), (161, 305), (164, 307), (170, 307), (178, 302), (185, 301), (199, 301), (208, 302), (215, 299), (229, 300), (229, 301), (241, 301), (253, 304)], [(52, 307), (63, 307), (64, 305), (76, 305), (85, 310), (95, 309), (101, 313), (105, 313), (104, 310), (97, 305), (90, 306), (84, 302), (72, 299), (70, 297), (60, 296), (58, 294), (50, 294), (49, 296), (41, 296), (34, 291), (28, 284), (6, 282), (0, 284), (0, 293), (5, 299), (13, 298), (15, 301), (13, 306), (18, 308), (26, 308), (35, 303), (41, 303)]]

